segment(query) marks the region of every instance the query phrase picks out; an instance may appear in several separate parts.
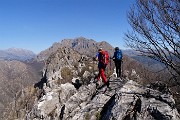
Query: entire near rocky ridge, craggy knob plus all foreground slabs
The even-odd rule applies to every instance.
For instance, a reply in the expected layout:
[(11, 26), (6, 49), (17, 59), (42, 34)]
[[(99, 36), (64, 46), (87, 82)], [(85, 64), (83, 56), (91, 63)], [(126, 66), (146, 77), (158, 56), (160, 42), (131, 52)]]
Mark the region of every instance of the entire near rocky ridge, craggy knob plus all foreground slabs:
[[(70, 54), (71, 53), (71, 54)], [(68, 57), (69, 56), (69, 57)], [(18, 120), (179, 120), (175, 101), (166, 85), (142, 86), (108, 76), (110, 88), (94, 80), (97, 65), (91, 58), (59, 48), (46, 61), (31, 107), (21, 108)], [(22, 103), (21, 103), (22, 104)], [(8, 118), (7, 116), (6, 118)]]

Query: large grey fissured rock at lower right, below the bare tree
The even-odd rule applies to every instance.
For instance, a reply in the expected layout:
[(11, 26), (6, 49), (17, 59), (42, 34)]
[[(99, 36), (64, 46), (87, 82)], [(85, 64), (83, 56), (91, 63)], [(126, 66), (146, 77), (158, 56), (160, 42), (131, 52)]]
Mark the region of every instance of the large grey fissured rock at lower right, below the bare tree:
[[(139, 120), (178, 120), (180, 116), (177, 110), (171, 105), (175, 104), (171, 95), (164, 95), (159, 91), (150, 90), (150, 96), (145, 95), (148, 88), (143, 88), (134, 81), (128, 81), (118, 91), (116, 104), (112, 108), (115, 119), (139, 119)], [(158, 97), (158, 96), (161, 96)], [(167, 97), (168, 96), (168, 97)], [(166, 100), (168, 99), (168, 100)], [(137, 109), (137, 101), (139, 110)]]

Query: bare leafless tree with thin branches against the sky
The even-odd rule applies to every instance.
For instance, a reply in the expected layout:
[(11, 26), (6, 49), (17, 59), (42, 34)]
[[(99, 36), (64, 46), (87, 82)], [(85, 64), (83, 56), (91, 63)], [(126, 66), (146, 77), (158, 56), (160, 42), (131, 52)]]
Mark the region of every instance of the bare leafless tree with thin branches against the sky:
[(128, 22), (126, 45), (163, 63), (180, 83), (180, 0), (136, 0)]

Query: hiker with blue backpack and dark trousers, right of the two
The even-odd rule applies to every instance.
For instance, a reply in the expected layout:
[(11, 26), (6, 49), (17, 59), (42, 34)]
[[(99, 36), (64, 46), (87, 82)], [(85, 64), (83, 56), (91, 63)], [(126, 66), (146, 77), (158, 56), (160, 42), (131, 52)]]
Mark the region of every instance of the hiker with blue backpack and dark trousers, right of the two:
[(116, 66), (117, 77), (121, 77), (122, 51), (119, 49), (119, 47), (115, 47), (115, 52), (112, 59)]

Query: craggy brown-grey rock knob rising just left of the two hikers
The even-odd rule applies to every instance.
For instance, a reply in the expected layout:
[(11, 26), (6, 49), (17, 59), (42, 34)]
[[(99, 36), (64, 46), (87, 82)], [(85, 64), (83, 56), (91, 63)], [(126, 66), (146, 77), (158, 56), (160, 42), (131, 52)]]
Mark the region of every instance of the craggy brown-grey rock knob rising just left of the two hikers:
[[(45, 62), (43, 69), (43, 78), (35, 87), (42, 88), (46, 86), (53, 87), (61, 83), (71, 82), (73, 78), (82, 77), (84, 72), (92, 73), (92, 58), (74, 51), (71, 48), (62, 47), (51, 54)], [(86, 75), (84, 79), (87, 79)]]

